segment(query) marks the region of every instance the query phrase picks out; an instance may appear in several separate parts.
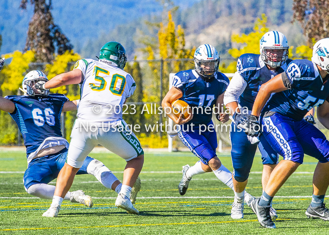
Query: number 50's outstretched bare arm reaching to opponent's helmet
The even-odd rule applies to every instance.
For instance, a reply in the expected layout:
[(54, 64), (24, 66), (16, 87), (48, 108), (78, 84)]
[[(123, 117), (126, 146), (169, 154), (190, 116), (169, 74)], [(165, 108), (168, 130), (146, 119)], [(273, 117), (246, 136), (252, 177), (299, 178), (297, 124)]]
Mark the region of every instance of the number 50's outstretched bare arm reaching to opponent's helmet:
[(82, 72), (79, 69), (73, 69), (53, 77), (45, 84), (45, 89), (53, 89), (70, 84), (79, 84), (82, 80)]

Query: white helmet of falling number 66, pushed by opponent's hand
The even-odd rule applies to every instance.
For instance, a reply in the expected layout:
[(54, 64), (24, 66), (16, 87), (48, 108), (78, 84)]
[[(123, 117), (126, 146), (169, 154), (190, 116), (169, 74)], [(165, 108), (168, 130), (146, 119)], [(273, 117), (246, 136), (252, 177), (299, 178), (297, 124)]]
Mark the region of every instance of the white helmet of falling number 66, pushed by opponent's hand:
[(32, 70), (28, 72), (24, 76), (22, 82), (23, 92), (28, 96), (36, 96), (36, 95), (48, 96), (49, 90), (37, 90), (39, 94), (35, 94), (35, 92), (33, 91), (34, 85), (40, 81), (45, 81), (45, 82), (49, 81), (45, 73), (39, 70)]

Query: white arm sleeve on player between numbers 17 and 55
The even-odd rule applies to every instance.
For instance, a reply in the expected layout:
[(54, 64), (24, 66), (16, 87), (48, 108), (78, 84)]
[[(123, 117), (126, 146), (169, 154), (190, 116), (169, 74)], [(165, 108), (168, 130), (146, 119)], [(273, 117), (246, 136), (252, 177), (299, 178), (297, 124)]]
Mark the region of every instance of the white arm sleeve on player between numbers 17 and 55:
[(228, 85), (226, 92), (224, 93), (224, 105), (238, 101), (239, 96), (242, 94), (246, 88), (247, 83), (241, 77), (239, 72), (235, 72), (234, 76), (231, 79), (230, 84)]

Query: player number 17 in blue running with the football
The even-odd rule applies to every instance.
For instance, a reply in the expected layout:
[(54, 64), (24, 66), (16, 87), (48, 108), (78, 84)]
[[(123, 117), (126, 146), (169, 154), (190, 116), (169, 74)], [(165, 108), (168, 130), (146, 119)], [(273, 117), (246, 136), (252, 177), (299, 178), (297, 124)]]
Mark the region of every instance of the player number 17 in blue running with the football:
[[(229, 120), (223, 110), (224, 91), (229, 80), (218, 71), (219, 61), (219, 54), (213, 46), (204, 44), (198, 47), (194, 53), (195, 70), (176, 73), (173, 87), (162, 100), (166, 114), (180, 125), (179, 138), (200, 159), (192, 167), (183, 166), (183, 177), (178, 186), (181, 195), (186, 193), (194, 175), (212, 171), (220, 181), (233, 188), (231, 172), (216, 155), (217, 136), (212, 122), (214, 105), (217, 119), (223, 123)], [(171, 104), (177, 99), (191, 107), (192, 113), (187, 119), (172, 112)]]

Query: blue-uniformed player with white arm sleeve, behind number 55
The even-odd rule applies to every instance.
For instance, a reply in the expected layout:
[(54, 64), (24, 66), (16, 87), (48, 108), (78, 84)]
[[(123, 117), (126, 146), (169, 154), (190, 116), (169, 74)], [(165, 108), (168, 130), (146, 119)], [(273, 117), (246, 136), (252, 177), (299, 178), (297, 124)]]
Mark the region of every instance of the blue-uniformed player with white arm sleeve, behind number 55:
[[(263, 83), (281, 73), (291, 62), (288, 59), (289, 46), (286, 37), (278, 31), (266, 32), (260, 40), (260, 55), (243, 54), (237, 60), (237, 71), (224, 95), (224, 104), (233, 117), (230, 139), (234, 185), (234, 202), (231, 217), (243, 218), (244, 189), (253, 165), (257, 146), (262, 154), (262, 186), (266, 187), (268, 178), (277, 164), (278, 154), (266, 142), (251, 143), (238, 125), (248, 121), (257, 93)], [(276, 211), (270, 208), (272, 219), (277, 218)]]

